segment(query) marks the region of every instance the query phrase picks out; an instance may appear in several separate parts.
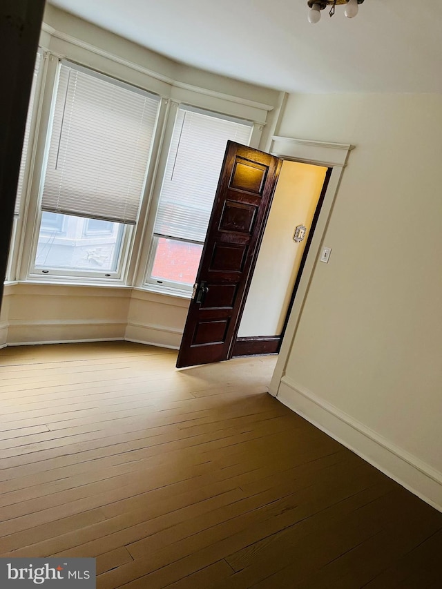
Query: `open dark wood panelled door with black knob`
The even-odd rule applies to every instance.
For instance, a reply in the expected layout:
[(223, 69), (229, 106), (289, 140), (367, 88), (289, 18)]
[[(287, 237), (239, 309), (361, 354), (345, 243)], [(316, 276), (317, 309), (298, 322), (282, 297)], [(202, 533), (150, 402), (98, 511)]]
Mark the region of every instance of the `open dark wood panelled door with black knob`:
[(281, 163), (228, 142), (177, 368), (229, 358)]

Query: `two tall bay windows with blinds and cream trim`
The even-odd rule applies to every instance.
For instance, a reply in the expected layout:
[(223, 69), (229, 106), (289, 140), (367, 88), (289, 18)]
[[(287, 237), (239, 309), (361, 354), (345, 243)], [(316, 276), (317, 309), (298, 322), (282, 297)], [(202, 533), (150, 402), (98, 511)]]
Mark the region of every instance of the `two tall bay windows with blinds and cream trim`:
[[(250, 120), (258, 109), (186, 90), (203, 109), (172, 86), (156, 88), (160, 96), (144, 89), (148, 80), (138, 78), (140, 88), (117, 79), (132, 79), (129, 69), (110, 73), (51, 50), (37, 56), (17, 192), (17, 277), (189, 296), (227, 142), (258, 145), (262, 126)], [(229, 115), (206, 109), (211, 103)]]

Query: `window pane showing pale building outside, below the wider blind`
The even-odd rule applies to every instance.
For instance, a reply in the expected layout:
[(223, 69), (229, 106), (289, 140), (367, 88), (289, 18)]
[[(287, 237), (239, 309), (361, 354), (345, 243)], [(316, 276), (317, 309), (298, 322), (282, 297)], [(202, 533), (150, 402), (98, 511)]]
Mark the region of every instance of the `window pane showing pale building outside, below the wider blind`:
[(88, 224), (91, 221), (73, 215), (42, 213), (35, 266), (116, 271), (124, 225), (103, 222), (106, 231), (90, 233)]

